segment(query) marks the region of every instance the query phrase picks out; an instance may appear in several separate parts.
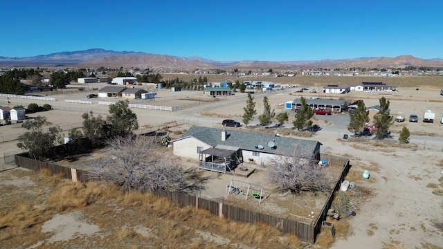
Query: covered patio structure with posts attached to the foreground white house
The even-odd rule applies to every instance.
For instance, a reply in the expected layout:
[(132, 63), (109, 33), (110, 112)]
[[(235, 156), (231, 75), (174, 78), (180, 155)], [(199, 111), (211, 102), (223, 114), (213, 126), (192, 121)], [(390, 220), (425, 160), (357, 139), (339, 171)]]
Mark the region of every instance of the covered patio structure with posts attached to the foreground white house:
[(242, 150), (239, 147), (217, 145), (199, 153), (199, 169), (226, 174), (243, 164)]

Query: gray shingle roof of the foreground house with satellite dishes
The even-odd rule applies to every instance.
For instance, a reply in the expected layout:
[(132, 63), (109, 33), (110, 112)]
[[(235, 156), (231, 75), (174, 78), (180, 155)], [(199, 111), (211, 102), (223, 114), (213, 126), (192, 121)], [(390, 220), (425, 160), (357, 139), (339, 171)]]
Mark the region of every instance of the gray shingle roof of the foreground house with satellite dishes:
[[(269, 154), (277, 154), (284, 156), (293, 156), (294, 150), (312, 155), (318, 149), (320, 142), (315, 140), (303, 140), (297, 138), (283, 138), (275, 136), (275, 134), (258, 133), (251, 131), (241, 131), (235, 129), (225, 129), (228, 133), (228, 138), (225, 141), (221, 140), (221, 131), (224, 129), (197, 127), (193, 126), (181, 136), (186, 138), (192, 136), (206, 142), (208, 145), (215, 147), (217, 145), (228, 145), (246, 149), (248, 151), (259, 151)], [(275, 149), (267, 146), (268, 142), (273, 141)], [(257, 149), (255, 145), (262, 145), (263, 149)]]

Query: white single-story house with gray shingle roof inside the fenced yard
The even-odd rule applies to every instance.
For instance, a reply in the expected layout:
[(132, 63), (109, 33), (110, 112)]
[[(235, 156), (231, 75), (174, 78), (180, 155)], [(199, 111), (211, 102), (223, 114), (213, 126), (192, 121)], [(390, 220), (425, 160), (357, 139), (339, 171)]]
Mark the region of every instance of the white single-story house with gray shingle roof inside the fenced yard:
[(226, 172), (228, 167), (235, 168), (244, 160), (266, 165), (278, 156), (318, 159), (321, 145), (315, 140), (198, 126), (190, 127), (181, 138), (171, 142), (174, 155), (199, 160), (199, 168), (217, 172)]

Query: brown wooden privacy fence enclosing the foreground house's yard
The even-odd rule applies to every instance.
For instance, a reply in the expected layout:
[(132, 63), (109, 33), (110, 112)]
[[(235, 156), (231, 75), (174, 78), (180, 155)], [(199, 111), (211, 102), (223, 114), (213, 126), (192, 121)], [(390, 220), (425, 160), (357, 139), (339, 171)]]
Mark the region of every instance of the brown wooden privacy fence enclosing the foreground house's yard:
[[(228, 204), (223, 199), (221, 201), (213, 201), (207, 199), (201, 199), (196, 195), (178, 193), (178, 192), (168, 192), (168, 191), (156, 191), (155, 194), (159, 196), (164, 196), (170, 199), (172, 203), (175, 203), (177, 207), (183, 208), (188, 205), (195, 206), (196, 209), (208, 210), (211, 214), (219, 216), (220, 218), (230, 219), (233, 221), (240, 221), (244, 223), (265, 223), (277, 228), (280, 232), (296, 234), (298, 239), (303, 242), (313, 244), (316, 241), (316, 234), (320, 232), (321, 225), (323, 221), (326, 220), (327, 210), (331, 207), (332, 201), (334, 199), (334, 194), (336, 190), (341, 185), (347, 172), (350, 169), (350, 161), (347, 158), (342, 158), (340, 156), (323, 155), (320, 156), (325, 160), (328, 160), (332, 165), (335, 163), (343, 163), (343, 171), (338, 177), (334, 189), (331, 194), (329, 194), (328, 199), (323, 206), (318, 218), (314, 225), (303, 223), (300, 221), (294, 221), (284, 217), (272, 216), (269, 214), (262, 214), (260, 212), (255, 212), (253, 210), (246, 210), (244, 208), (239, 208), (233, 204)], [(24, 154), (15, 155), (15, 163), (19, 167), (25, 167), (27, 169), (33, 169), (39, 171), (40, 169), (50, 169), (53, 174), (64, 174), (64, 178), (72, 179), (73, 181), (80, 181), (86, 183), (88, 181), (87, 172), (81, 169), (71, 169), (69, 167), (64, 167), (56, 165), (54, 163), (41, 162), (39, 160), (34, 160), (27, 158)], [(338, 165), (336, 165), (338, 166)]]

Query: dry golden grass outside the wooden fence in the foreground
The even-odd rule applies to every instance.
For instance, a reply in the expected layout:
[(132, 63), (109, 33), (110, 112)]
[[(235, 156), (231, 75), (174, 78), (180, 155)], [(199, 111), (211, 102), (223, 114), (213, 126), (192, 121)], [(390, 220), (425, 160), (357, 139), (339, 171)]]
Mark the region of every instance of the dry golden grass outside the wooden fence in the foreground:
[[(0, 211), (0, 241), (6, 248), (30, 246), (37, 241), (46, 241), (43, 246), (51, 247), (47, 242), (51, 234), (41, 232), (42, 224), (54, 214), (77, 210), (82, 211), (87, 221), (107, 231), (101, 235), (104, 237), (87, 239), (99, 248), (233, 248), (239, 243), (248, 247), (299, 248), (302, 245), (295, 235), (282, 235), (269, 225), (218, 219), (190, 206), (177, 208), (168, 199), (154, 194), (123, 193), (118, 187), (93, 182), (73, 183), (60, 176), (48, 176), (48, 172), (35, 174), (34, 181), (49, 189), (47, 200), (32, 205), (11, 203), (15, 206), (13, 210)], [(204, 239), (198, 235), (199, 230), (216, 239)]]

